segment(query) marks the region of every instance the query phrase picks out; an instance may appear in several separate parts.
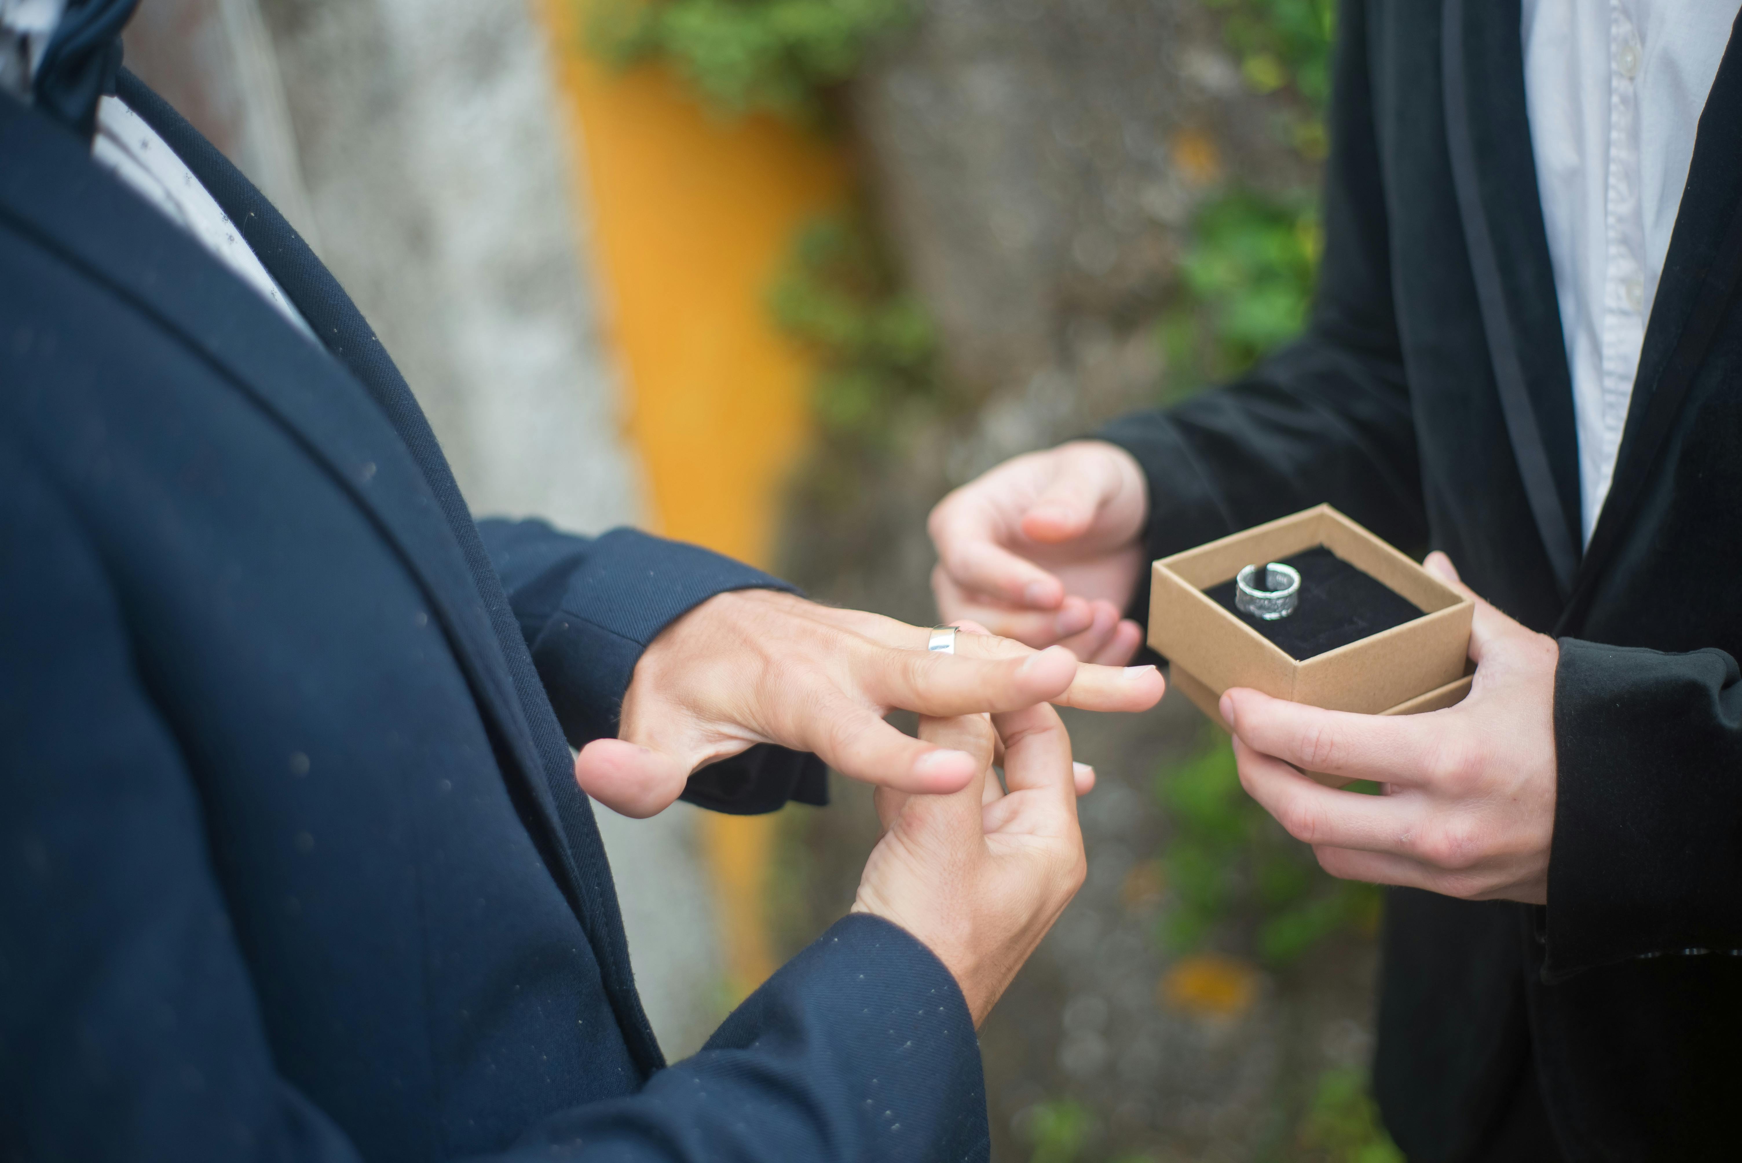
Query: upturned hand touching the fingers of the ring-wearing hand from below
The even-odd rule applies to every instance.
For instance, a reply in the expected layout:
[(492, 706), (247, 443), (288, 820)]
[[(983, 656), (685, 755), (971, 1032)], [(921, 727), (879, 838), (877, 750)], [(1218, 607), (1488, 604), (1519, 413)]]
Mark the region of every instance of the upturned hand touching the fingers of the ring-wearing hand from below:
[[(991, 771), (993, 728), (1003, 776)], [(920, 738), (981, 764), (949, 796), (878, 789), (883, 837), (866, 860), (854, 912), (871, 912), (920, 938), (967, 998), (974, 1025), (1003, 994), (1084, 883), (1071, 740), (1045, 703), (1002, 716), (922, 719)]]

